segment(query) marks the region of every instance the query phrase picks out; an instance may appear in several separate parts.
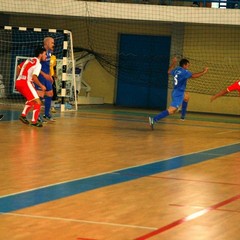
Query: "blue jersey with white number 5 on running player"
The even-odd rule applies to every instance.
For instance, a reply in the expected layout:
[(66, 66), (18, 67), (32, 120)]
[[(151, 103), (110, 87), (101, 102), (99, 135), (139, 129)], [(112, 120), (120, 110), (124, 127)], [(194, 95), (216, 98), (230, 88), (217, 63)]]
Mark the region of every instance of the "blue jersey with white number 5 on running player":
[(185, 91), (188, 78), (192, 77), (192, 73), (182, 67), (173, 69), (170, 74), (173, 76), (173, 89)]

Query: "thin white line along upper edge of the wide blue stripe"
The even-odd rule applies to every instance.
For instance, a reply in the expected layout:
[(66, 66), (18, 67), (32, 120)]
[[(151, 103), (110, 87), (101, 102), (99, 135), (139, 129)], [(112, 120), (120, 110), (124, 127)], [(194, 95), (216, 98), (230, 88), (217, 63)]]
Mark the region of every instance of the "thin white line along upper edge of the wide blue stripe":
[(139, 165), (131, 166), (131, 167), (127, 167), (127, 168), (120, 168), (120, 169), (112, 170), (112, 171), (109, 171), (109, 172), (103, 172), (103, 173), (99, 173), (99, 174), (95, 174), (95, 175), (90, 175), (90, 176), (83, 177), (83, 178), (77, 178), (77, 179), (72, 179), (72, 180), (68, 180), (68, 181), (63, 181), (63, 182), (58, 182), (58, 183), (53, 183), (53, 184), (45, 185), (45, 186), (42, 186), (42, 187), (31, 188), (31, 189), (28, 189), (28, 190), (25, 190), (25, 191), (20, 191), (20, 192), (16, 192), (16, 193), (11, 193), (11, 194), (2, 195), (2, 196), (0, 196), (0, 199), (1, 199), (1, 198), (5, 198), (5, 197), (10, 197), (10, 196), (15, 196), (15, 195), (22, 194), (22, 193), (27, 193), (27, 192), (31, 192), (31, 191), (36, 191), (36, 190), (39, 190), (39, 189), (44, 189), (44, 188), (48, 188), (48, 187), (52, 187), (52, 186), (57, 186), (57, 185), (60, 185), (60, 184), (65, 184), (65, 183), (75, 182), (75, 181), (79, 181), (79, 180), (83, 180), (83, 179), (88, 179), (88, 178), (92, 178), (92, 177), (102, 176), (102, 175), (105, 175), (105, 174), (117, 174), (117, 172), (122, 171), (122, 170), (128, 170), (128, 169), (131, 169), (131, 168), (141, 167), (141, 166), (145, 166), (145, 165), (157, 163), (157, 162), (160, 162), (160, 161), (171, 160), (171, 159), (174, 159), (174, 158), (176, 158), (176, 157), (183, 157), (183, 156), (188, 156), (188, 155), (191, 155), (191, 154), (202, 153), (202, 152), (210, 151), (210, 150), (213, 150), (213, 149), (222, 148), (222, 147), (228, 147), (228, 146), (232, 146), (232, 145), (236, 145), (236, 144), (239, 144), (239, 142), (235, 142), (235, 143), (228, 144), (228, 145), (224, 145), (224, 146), (218, 146), (218, 147), (215, 147), (215, 148), (208, 148), (208, 149), (205, 149), (205, 150), (200, 150), (200, 151), (196, 151), (196, 152), (191, 152), (191, 153), (188, 153), (188, 154), (183, 154), (183, 155), (179, 155), (179, 156), (174, 156), (174, 157), (170, 157), (170, 158), (166, 158), (166, 159), (155, 160), (155, 161), (153, 161), (153, 162), (144, 163), (144, 164), (139, 164)]

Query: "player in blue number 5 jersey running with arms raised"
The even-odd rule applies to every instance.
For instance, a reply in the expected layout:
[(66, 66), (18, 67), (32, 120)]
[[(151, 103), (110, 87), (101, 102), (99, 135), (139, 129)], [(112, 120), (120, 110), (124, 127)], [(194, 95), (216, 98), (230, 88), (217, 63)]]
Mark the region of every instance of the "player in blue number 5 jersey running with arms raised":
[(190, 63), (187, 59), (181, 59), (179, 66), (176, 67), (177, 58), (173, 58), (172, 64), (168, 69), (168, 74), (173, 76), (173, 91), (172, 102), (169, 108), (154, 117), (149, 117), (149, 125), (153, 130), (154, 124), (160, 119), (167, 117), (170, 114), (174, 114), (177, 109), (182, 106), (182, 116), (185, 116), (188, 104), (188, 94), (185, 94), (187, 81), (189, 78), (201, 77), (208, 71), (206, 67), (202, 72), (192, 73), (188, 70)]

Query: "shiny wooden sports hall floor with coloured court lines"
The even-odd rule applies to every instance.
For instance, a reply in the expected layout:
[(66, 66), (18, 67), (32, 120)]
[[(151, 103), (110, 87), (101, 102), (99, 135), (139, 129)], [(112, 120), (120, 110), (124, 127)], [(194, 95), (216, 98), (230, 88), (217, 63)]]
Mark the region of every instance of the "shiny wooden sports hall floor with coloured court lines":
[(1, 109), (1, 240), (239, 240), (239, 116)]

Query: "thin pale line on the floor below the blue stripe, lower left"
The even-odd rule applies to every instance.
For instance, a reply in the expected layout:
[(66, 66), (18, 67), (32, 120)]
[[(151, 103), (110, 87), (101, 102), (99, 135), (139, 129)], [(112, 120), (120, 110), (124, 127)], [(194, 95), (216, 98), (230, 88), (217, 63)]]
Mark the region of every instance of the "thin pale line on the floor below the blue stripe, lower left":
[(149, 230), (158, 229), (158, 228), (153, 228), (153, 227), (143, 227), (143, 226), (128, 225), (128, 224), (108, 223), (108, 222), (86, 221), (86, 220), (79, 220), (79, 219), (73, 219), (73, 218), (47, 217), (47, 216), (40, 216), (40, 215), (30, 215), (30, 214), (20, 214), (20, 213), (2, 213), (2, 212), (0, 214), (7, 215), (7, 216), (28, 217), (28, 218), (47, 219), (47, 220), (58, 220), (58, 221), (65, 221), (65, 222), (100, 224), (100, 225), (108, 225), (108, 226), (115, 226), (115, 227), (140, 228), (140, 229), (149, 229)]

